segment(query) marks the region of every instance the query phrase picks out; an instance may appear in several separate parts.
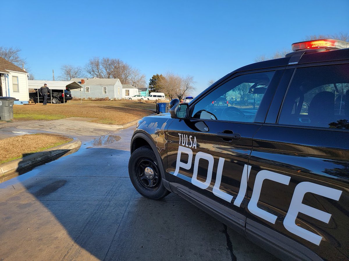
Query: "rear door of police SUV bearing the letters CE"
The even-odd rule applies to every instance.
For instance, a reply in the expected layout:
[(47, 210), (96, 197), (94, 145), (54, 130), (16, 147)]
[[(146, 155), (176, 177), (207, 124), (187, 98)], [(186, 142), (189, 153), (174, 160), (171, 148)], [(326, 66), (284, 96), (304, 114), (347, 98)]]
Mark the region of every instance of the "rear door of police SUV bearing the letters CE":
[(349, 64), (289, 70), (253, 137), (246, 234), (304, 259), (348, 260)]

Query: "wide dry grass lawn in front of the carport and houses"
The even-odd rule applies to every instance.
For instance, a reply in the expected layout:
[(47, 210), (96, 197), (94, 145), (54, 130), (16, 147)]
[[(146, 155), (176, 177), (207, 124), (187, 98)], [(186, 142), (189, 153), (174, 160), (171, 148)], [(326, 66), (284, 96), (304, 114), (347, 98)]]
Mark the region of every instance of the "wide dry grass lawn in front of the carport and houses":
[[(154, 113), (148, 109), (149, 103), (122, 102), (129, 106), (121, 106), (122, 104), (110, 106), (107, 105), (108, 101), (95, 103), (47, 104), (46, 106), (42, 104), (14, 105), (13, 113), (15, 120), (58, 120), (81, 117), (96, 118), (96, 120), (92, 120), (96, 123), (116, 125), (125, 124)], [(118, 102), (110, 101), (110, 103), (116, 104)], [(135, 104), (134, 107), (130, 107), (132, 104)], [(154, 106), (154, 104), (151, 105)]]

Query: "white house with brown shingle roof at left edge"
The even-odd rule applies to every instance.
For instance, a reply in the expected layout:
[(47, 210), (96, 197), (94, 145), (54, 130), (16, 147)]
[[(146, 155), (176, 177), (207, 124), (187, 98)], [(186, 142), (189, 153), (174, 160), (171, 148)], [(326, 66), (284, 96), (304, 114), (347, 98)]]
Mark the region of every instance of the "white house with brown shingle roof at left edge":
[(28, 73), (0, 57), (0, 96), (14, 97), (23, 104), (29, 100)]

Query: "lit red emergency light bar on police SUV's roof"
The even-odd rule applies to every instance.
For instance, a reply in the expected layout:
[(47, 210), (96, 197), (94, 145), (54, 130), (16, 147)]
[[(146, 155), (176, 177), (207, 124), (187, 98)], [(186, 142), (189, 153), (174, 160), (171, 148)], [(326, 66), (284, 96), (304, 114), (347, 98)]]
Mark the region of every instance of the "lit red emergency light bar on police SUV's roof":
[(292, 51), (311, 48), (324, 48), (327, 50), (349, 48), (349, 43), (334, 39), (319, 39), (312, 41), (296, 42), (292, 44)]

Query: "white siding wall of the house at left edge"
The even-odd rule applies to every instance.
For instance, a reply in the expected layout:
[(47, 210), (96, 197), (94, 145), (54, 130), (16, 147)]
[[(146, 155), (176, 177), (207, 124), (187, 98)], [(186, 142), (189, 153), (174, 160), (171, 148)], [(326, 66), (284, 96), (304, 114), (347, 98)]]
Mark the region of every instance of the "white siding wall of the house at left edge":
[[(18, 77), (19, 92), (13, 91), (12, 76)], [(27, 73), (9, 71), (8, 83), (9, 83), (9, 87), (10, 87), (10, 93), (8, 93), (7, 77), (4, 77), (2, 75), (1, 81), (2, 81), (1, 85), (2, 85), (2, 95), (3, 96), (6, 96), (6, 93), (7, 93), (7, 96), (14, 97), (20, 101), (28, 101), (29, 100)], [(6, 84), (5, 84), (5, 81), (6, 81)], [(5, 86), (6, 86), (6, 88), (5, 88)]]

